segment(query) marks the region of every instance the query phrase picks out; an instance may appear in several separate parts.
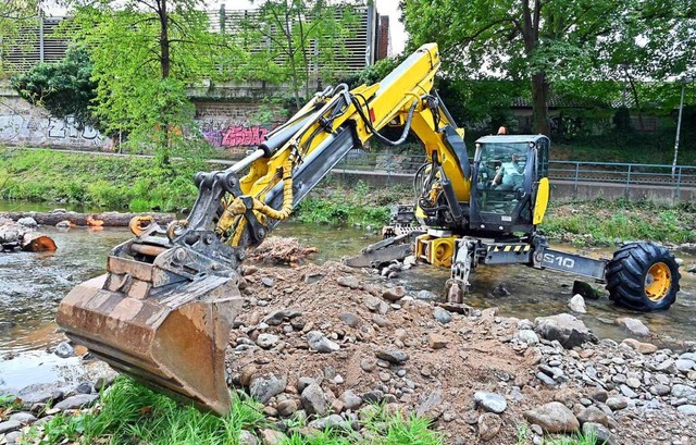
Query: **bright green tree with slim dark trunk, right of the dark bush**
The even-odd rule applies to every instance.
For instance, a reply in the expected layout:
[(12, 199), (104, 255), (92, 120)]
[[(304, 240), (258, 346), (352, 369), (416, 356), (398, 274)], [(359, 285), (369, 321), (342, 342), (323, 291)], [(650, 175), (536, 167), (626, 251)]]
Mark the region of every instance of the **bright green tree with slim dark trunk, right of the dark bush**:
[(109, 133), (154, 149), (162, 165), (194, 125), (186, 88), (216, 78), (229, 54), (199, 0), (72, 0), (65, 30), (89, 52), (92, 112)]

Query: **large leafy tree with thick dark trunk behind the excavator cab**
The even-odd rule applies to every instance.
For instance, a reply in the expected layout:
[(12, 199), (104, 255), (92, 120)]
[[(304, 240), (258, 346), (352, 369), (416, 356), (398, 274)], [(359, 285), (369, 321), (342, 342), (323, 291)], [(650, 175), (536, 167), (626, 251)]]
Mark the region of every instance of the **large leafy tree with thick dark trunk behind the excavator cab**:
[[(546, 106), (555, 83), (621, 79), (619, 54), (632, 57), (645, 47), (674, 44), (664, 40), (680, 23), (680, 47), (686, 46), (689, 12), (679, 16), (668, 0), (409, 0), (401, 2), (411, 46), (440, 45), (447, 69), (457, 75), (527, 78), (534, 109), (534, 129), (548, 134)], [(692, 4), (681, 0), (680, 4)], [(684, 7), (689, 10), (689, 7)], [(693, 12), (693, 5), (691, 10)], [(655, 22), (660, 26), (656, 27)], [(670, 22), (671, 21), (671, 22)], [(671, 23), (671, 25), (668, 25)], [(659, 29), (658, 29), (659, 28)], [(693, 33), (693, 27), (691, 28)], [(692, 37), (693, 38), (693, 37)], [(658, 40), (662, 39), (662, 44)], [(647, 42), (647, 45), (645, 45)], [(693, 45), (692, 45), (693, 47)], [(688, 52), (688, 51), (687, 51)], [(644, 59), (657, 63), (658, 51)], [(618, 73), (618, 74), (617, 74)], [(620, 83), (616, 84), (620, 87)], [(616, 92), (616, 90), (614, 90)]]

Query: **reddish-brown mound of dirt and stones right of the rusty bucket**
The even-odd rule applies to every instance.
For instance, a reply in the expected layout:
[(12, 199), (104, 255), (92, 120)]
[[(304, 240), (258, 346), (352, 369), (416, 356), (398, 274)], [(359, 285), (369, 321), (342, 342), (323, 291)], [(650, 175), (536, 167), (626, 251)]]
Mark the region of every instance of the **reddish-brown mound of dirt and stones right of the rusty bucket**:
[[(560, 400), (556, 408), (567, 406), (573, 419), (586, 407), (596, 409), (591, 394), (599, 385), (562, 371), (556, 375), (546, 364), (557, 366), (558, 357), (580, 357), (597, 347), (591, 343), (570, 350), (543, 336), (527, 343), (530, 335), (536, 337), (529, 320), (497, 317), (496, 308), (450, 312), (337, 262), (295, 269), (252, 265), (245, 280), (246, 307), (231, 334), (229, 382), (261, 399), (265, 412), (281, 421), (310, 416), (318, 419), (310, 427), (323, 430), (333, 413), (341, 416), (334, 421), (355, 424), (370, 409), (368, 401), (376, 401), (432, 419), (447, 443), (510, 444), (577, 431), (582, 421), (576, 420), (570, 427), (534, 424), (532, 432), (523, 427), (534, 423), (525, 421), (530, 412), (554, 400)], [(506, 407), (489, 412), (474, 400), (476, 394), (504, 398)], [(606, 405), (604, 409), (613, 412)], [(630, 417), (605, 418), (611, 418), (604, 427), (612, 429), (605, 428), (612, 441), (624, 436), (623, 428), (635, 430)], [(687, 430), (664, 431), (679, 440), (674, 431)], [(696, 429), (691, 431), (696, 437)]]

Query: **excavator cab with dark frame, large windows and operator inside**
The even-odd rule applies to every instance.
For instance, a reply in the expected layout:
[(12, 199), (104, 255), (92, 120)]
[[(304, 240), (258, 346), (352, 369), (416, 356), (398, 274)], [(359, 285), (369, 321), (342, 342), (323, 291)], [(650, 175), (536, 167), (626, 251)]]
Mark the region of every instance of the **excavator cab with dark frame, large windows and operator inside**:
[[(470, 228), (531, 233), (539, 184), (548, 182), (549, 139), (542, 135), (485, 136), (475, 146)], [(547, 200), (548, 194), (545, 196), (540, 198)]]

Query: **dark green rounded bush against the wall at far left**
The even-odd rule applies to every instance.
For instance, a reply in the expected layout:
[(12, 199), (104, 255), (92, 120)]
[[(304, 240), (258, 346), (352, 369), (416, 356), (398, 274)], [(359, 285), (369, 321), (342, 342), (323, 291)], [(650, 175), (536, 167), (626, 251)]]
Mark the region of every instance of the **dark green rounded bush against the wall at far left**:
[(79, 126), (89, 125), (104, 131), (90, 109), (97, 97), (97, 84), (91, 81), (91, 72), (89, 54), (84, 49), (72, 47), (63, 60), (38, 63), (26, 73), (13, 76), (11, 83), (22, 98), (44, 107), (51, 115), (61, 119), (72, 116)]

